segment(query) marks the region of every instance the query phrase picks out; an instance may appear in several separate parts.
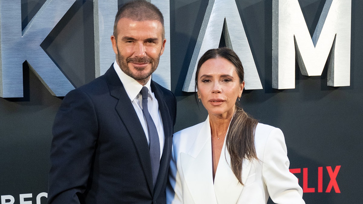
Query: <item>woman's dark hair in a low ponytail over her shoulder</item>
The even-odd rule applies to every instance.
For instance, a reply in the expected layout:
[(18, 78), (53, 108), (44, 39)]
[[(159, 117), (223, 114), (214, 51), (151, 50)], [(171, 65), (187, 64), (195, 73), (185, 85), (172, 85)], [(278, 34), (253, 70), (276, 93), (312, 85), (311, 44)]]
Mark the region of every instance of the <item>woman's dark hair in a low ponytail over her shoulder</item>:
[[(224, 58), (231, 62), (236, 68), (240, 83), (244, 81), (244, 70), (240, 58), (229, 48), (210, 49), (201, 56), (198, 61), (197, 70), (195, 73), (195, 90), (198, 87), (198, 74), (200, 67), (205, 61), (215, 58)], [(254, 132), (258, 121), (250, 117), (240, 106), (236, 100), (236, 111), (229, 126), (226, 137), (226, 148), (231, 156), (231, 168), (233, 174), (238, 181), (242, 183), (242, 160), (258, 159), (256, 149), (254, 147)]]

